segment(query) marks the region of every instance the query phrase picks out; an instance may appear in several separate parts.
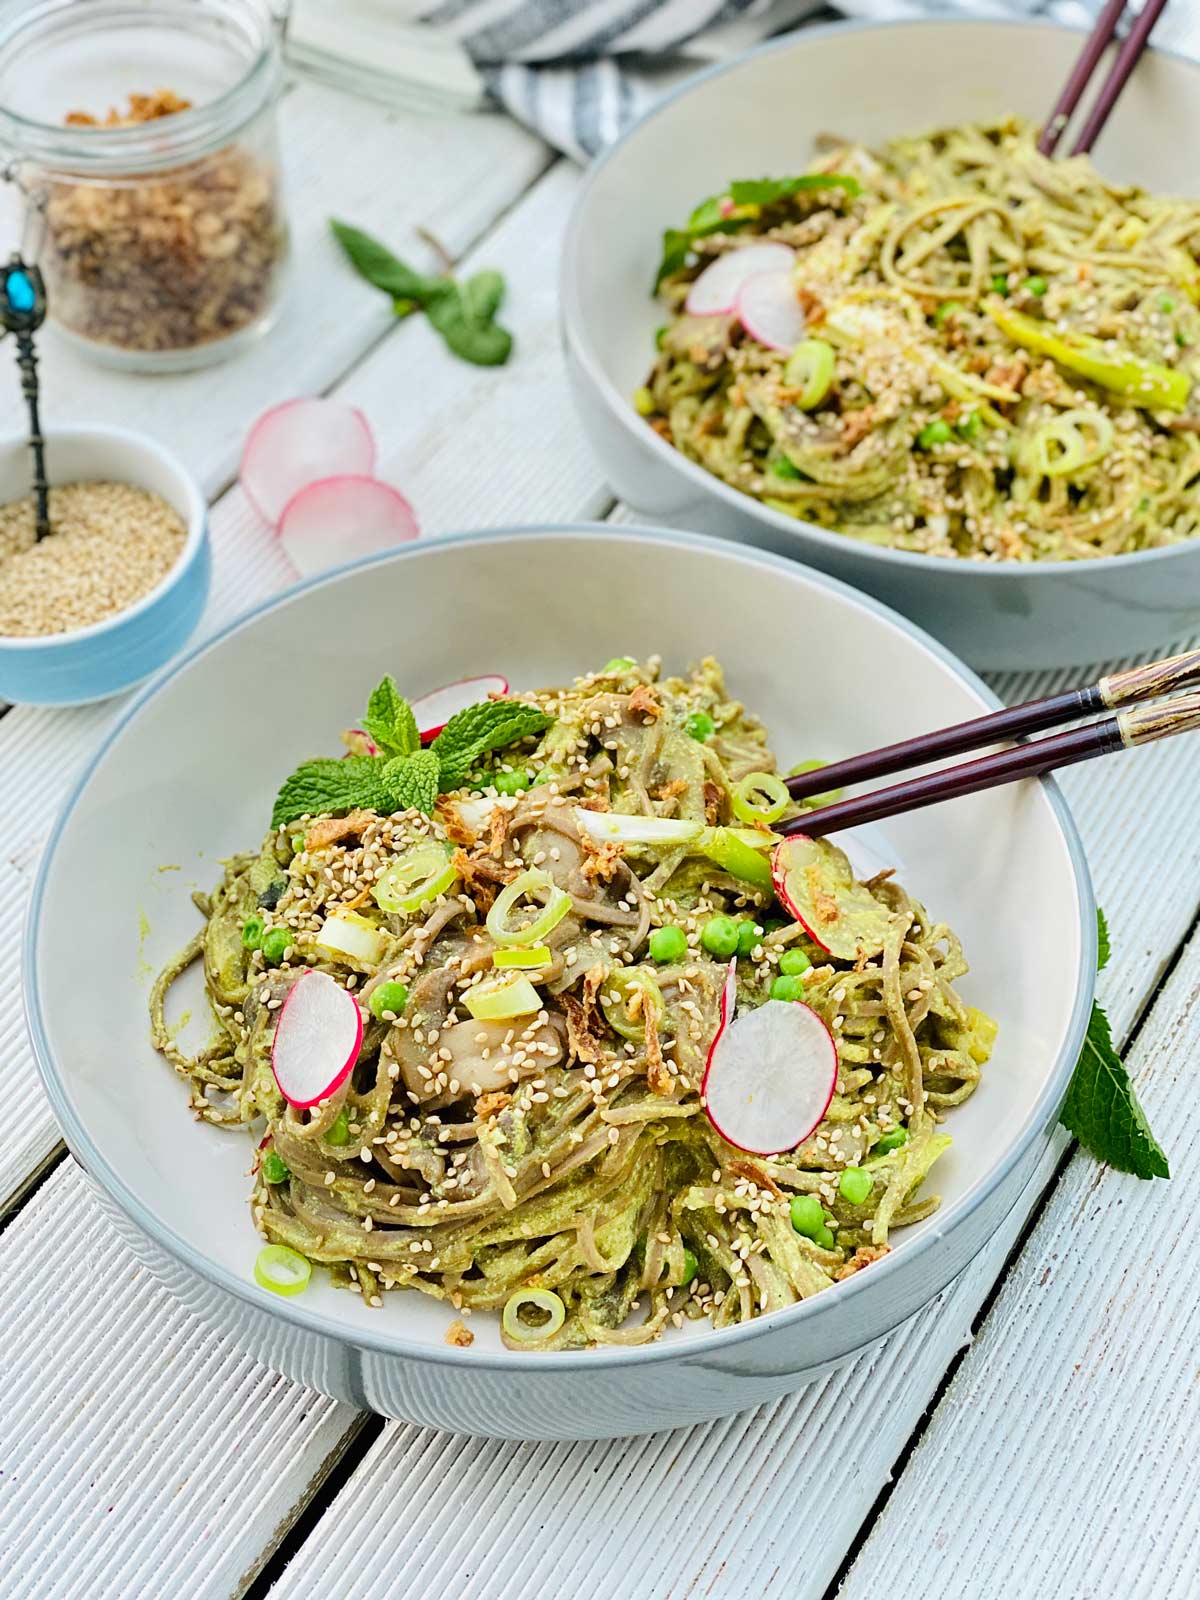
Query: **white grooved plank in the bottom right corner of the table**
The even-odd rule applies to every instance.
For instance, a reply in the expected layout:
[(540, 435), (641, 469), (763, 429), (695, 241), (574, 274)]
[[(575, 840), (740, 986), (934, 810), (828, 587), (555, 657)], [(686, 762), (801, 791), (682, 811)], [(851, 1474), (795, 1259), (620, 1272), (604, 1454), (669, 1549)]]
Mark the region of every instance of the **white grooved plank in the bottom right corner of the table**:
[(1130, 1062), (1170, 1184), (1070, 1162), (843, 1600), (1198, 1592), (1198, 1054), (1195, 938)]

